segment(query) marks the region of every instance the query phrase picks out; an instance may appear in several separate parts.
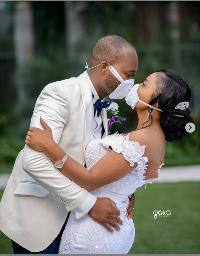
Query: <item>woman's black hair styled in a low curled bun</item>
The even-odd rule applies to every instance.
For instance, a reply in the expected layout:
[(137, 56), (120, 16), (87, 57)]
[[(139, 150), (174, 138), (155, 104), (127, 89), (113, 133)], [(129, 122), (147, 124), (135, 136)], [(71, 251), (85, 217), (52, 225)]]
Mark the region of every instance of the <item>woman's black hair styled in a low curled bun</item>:
[[(190, 101), (191, 90), (182, 77), (171, 69), (161, 69), (157, 71), (156, 76), (155, 95), (157, 96), (150, 101), (150, 105), (158, 100), (158, 108), (163, 110), (160, 122), (166, 140), (169, 142), (181, 141), (187, 133), (185, 125), (193, 123), (193, 119), (189, 115), (191, 113), (189, 108), (181, 110), (175, 109), (175, 107), (180, 102)], [(184, 117), (177, 117), (172, 114), (183, 115)], [(152, 118), (151, 115), (150, 118)]]

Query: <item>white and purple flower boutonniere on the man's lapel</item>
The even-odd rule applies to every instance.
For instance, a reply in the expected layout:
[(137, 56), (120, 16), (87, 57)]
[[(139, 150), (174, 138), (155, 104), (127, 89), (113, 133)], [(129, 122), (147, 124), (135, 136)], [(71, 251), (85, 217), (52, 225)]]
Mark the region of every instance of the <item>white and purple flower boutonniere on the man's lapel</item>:
[[(110, 102), (108, 101), (108, 103)], [(111, 105), (106, 108), (106, 114), (108, 117), (108, 135), (110, 135), (111, 133), (111, 125), (113, 125), (113, 123), (122, 124), (121, 122), (126, 120), (126, 118), (119, 117), (118, 112), (118, 104), (116, 102), (111, 101)]]

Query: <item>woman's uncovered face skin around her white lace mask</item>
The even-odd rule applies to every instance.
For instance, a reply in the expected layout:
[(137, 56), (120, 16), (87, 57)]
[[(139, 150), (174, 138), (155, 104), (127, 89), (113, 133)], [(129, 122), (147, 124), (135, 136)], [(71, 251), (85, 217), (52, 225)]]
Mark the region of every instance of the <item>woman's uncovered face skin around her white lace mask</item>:
[[(155, 93), (155, 81), (156, 81), (156, 73), (153, 73), (149, 75), (143, 83), (139, 84), (139, 87), (137, 89), (137, 93), (139, 96), (139, 99), (142, 101), (145, 101), (146, 103), (150, 103), (150, 101), (154, 98), (152, 97)], [(148, 107), (145, 104), (142, 104), (141, 102), (137, 102), (135, 109), (147, 109)]]

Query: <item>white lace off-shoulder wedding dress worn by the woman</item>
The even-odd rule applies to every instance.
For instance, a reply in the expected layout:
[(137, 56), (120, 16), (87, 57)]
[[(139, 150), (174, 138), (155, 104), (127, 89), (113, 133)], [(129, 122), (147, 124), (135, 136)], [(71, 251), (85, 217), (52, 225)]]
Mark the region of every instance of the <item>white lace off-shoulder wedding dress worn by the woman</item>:
[[(111, 151), (122, 153), (131, 166), (137, 163), (131, 173), (121, 180), (105, 185), (92, 191), (96, 197), (109, 197), (119, 208), (123, 225), (121, 230), (109, 232), (101, 224), (94, 221), (88, 214), (76, 219), (70, 214), (68, 223), (63, 232), (59, 254), (127, 254), (132, 248), (135, 237), (134, 222), (127, 219), (126, 207), (129, 203), (128, 196), (145, 183), (152, 183), (152, 179), (145, 182), (145, 169), (148, 158), (143, 156), (145, 145), (140, 146), (136, 141), (129, 141), (129, 134), (123, 136), (115, 133), (103, 139), (92, 141), (85, 151), (85, 162), (90, 169), (98, 160)], [(109, 171), (109, 166), (108, 166)]]

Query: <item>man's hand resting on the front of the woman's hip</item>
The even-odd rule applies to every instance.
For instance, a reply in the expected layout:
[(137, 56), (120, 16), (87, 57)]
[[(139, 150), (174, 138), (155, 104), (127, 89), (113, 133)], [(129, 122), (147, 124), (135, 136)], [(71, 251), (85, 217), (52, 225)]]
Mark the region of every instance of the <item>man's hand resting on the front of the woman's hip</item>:
[(110, 232), (113, 232), (111, 226), (119, 231), (120, 227), (118, 224), (123, 225), (119, 215), (120, 211), (116, 203), (107, 197), (97, 197), (95, 205), (89, 211), (89, 216), (106, 227)]

